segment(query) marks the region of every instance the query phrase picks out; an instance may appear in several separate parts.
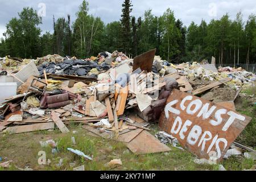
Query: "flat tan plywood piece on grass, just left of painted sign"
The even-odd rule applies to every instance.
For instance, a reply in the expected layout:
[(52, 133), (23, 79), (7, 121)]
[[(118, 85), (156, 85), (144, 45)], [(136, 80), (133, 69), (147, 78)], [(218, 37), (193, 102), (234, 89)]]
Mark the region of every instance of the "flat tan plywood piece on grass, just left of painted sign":
[(171, 148), (161, 143), (147, 131), (142, 131), (139, 135), (137, 135), (137, 137), (126, 145), (134, 154), (151, 154), (171, 150)]

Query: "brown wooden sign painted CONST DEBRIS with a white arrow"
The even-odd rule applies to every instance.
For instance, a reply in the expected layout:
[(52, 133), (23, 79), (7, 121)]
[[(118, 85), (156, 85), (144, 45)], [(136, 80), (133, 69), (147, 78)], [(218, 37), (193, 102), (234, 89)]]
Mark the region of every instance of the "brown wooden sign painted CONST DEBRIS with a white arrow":
[(218, 162), (250, 120), (246, 115), (174, 89), (159, 126), (199, 158)]

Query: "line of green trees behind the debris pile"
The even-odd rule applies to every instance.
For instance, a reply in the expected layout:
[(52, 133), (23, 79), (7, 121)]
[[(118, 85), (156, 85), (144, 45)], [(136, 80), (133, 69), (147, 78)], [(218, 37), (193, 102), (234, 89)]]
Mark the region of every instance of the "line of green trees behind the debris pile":
[(254, 14), (246, 22), (237, 13), (234, 20), (225, 14), (209, 23), (202, 19), (200, 24), (191, 22), (186, 27), (171, 9), (162, 16), (146, 10), (137, 19), (131, 16), (132, 11), (131, 1), (124, 0), (121, 19), (104, 24), (99, 17), (88, 14), (88, 2), (84, 0), (72, 24), (70, 15), (57, 20), (53, 15), (53, 33), (41, 35), (42, 18), (36, 10), (24, 7), (18, 18), (6, 24), (0, 56), (36, 58), (56, 53), (84, 59), (118, 50), (134, 57), (156, 48), (156, 55), (172, 63), (210, 60), (211, 56), (216, 57), (218, 65), (256, 62)]

